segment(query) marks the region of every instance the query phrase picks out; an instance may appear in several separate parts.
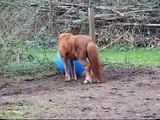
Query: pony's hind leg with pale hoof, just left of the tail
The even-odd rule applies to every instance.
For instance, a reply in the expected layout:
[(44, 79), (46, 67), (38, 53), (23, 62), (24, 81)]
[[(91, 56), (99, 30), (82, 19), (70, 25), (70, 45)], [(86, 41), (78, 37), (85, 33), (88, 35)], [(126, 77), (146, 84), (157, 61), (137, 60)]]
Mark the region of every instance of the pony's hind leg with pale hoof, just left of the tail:
[(86, 61), (86, 59), (80, 59), (80, 61), (86, 70), (86, 78), (85, 78), (84, 84), (92, 83), (91, 65)]

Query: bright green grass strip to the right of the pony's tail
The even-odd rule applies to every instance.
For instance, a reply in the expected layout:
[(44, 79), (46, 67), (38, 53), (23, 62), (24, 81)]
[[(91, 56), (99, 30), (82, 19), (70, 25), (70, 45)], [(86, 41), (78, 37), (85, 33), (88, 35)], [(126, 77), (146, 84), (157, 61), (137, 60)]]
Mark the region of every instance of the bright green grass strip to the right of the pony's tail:
[(106, 49), (100, 52), (102, 61), (117, 64), (132, 64), (135, 66), (158, 66), (160, 65), (160, 49), (136, 48), (133, 50), (121, 50), (120, 48)]

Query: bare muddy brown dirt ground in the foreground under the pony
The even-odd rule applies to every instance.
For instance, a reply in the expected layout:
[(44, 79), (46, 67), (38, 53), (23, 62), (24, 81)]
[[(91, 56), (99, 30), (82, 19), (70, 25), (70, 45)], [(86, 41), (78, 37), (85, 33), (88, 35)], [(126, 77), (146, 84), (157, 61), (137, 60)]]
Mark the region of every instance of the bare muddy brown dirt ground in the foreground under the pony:
[(106, 71), (101, 84), (57, 74), (0, 88), (0, 118), (160, 118), (160, 69)]

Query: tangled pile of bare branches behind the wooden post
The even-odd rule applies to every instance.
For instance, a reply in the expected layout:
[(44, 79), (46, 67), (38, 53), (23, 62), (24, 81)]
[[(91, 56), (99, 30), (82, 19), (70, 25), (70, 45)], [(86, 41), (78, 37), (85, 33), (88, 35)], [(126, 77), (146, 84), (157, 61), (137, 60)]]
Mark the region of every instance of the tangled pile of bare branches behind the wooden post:
[[(58, 24), (69, 31), (88, 34), (88, 1), (54, 2), (54, 14)], [(126, 43), (131, 46), (160, 45), (160, 2), (135, 2), (95, 0), (94, 18), (97, 44), (110, 47)]]

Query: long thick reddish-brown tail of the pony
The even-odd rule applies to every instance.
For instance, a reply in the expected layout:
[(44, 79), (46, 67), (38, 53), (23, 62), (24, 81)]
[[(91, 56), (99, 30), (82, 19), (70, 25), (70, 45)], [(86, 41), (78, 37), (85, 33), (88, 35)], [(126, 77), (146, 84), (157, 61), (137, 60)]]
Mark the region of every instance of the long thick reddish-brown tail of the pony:
[(91, 69), (94, 73), (96, 80), (99, 82), (102, 81), (103, 77), (103, 68), (100, 63), (98, 56), (97, 46), (93, 42), (89, 42), (87, 45), (88, 59), (91, 64)]

